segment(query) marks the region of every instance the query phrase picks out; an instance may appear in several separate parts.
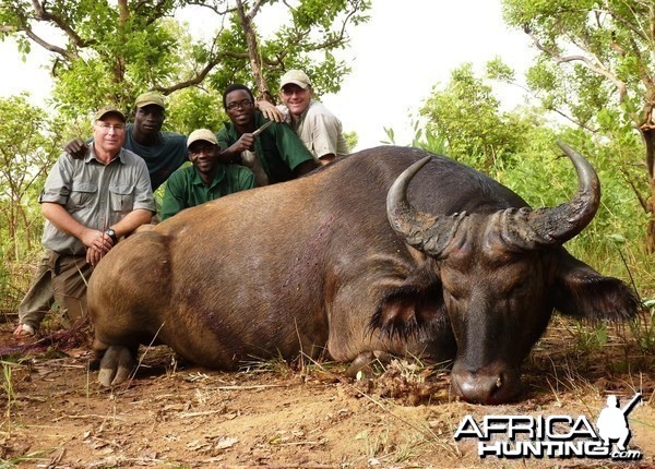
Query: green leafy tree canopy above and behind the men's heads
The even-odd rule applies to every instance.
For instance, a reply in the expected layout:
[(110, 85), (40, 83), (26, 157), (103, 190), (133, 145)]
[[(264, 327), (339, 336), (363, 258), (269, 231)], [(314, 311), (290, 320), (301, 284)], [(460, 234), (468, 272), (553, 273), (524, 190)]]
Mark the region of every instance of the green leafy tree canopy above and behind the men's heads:
[[(31, 1), (3, 0), (0, 38), (14, 37), (24, 53), (39, 40), (39, 47), (51, 52), (52, 98), (62, 116), (87, 117), (106, 103), (128, 112), (139, 93), (158, 89), (165, 95), (184, 95), (174, 101), (187, 104), (189, 109), (176, 108), (181, 116), (169, 121), (183, 131), (219, 123), (219, 107), (210, 105), (230, 83), (243, 83), (255, 94), (263, 92), (254, 79), (258, 68), (273, 95), (281, 74), (294, 67), (305, 68), (314, 79), (319, 95), (337, 92), (349, 69), (333, 52), (346, 47), (348, 27), (367, 21), (366, 11), (371, 7), (367, 0), (246, 2), (247, 20), (242, 20), (237, 14), (238, 3), (240, 0), (166, 0), (146, 7), (142, 2), (68, 0), (41, 3), (39, 13)], [(199, 31), (194, 24), (175, 20), (176, 13), (190, 7), (199, 12), (196, 21), (212, 19), (215, 31)], [(260, 21), (266, 26), (277, 23), (277, 28), (262, 33), (265, 28)], [(35, 25), (44, 23), (51, 27), (52, 38), (35, 33), (40, 31)], [(257, 57), (248, 47), (250, 26)]]

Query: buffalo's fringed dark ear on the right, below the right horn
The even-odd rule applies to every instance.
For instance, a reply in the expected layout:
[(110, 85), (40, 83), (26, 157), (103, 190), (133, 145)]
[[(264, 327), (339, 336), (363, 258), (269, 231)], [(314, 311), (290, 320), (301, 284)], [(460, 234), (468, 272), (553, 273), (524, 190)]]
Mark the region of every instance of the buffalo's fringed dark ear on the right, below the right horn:
[(590, 321), (626, 321), (636, 315), (639, 300), (628, 285), (563, 254), (555, 287), (555, 308), (560, 313)]

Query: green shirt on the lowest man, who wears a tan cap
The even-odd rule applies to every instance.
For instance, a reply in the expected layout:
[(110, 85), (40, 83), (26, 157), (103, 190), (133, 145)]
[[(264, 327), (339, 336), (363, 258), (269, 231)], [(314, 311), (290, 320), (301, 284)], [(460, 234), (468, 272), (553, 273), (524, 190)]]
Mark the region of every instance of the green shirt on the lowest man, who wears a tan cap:
[(250, 169), (238, 165), (217, 166), (218, 172), (210, 185), (203, 182), (194, 166), (170, 175), (162, 203), (162, 219), (170, 218), (184, 208), (254, 188), (254, 175)]

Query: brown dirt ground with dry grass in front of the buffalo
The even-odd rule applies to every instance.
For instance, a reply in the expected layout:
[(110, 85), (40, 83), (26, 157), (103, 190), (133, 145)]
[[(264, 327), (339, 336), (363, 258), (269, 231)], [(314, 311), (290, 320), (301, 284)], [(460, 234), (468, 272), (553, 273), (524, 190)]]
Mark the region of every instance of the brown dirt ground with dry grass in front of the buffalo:
[[(452, 399), (438, 366), (395, 361), (360, 381), (343, 364), (300, 361), (224, 373), (183, 365), (167, 347), (142, 347), (134, 377), (105, 389), (84, 340), (50, 334), (25, 350), (2, 323), (0, 468), (655, 467), (655, 358), (627, 346), (622, 328), (597, 348), (597, 335), (582, 344), (575, 327), (558, 320), (535, 347), (520, 401), (486, 407)], [(477, 441), (453, 438), (465, 416), (595, 423), (608, 395), (622, 406), (636, 392), (629, 448), (639, 461), (481, 459)]]

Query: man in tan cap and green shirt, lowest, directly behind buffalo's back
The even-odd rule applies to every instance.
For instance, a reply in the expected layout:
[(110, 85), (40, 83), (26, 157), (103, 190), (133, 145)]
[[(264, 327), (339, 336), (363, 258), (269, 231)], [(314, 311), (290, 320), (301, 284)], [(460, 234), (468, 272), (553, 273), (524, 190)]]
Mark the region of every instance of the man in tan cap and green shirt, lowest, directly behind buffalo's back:
[(178, 169), (166, 183), (162, 219), (234, 192), (254, 187), (252, 171), (239, 165), (218, 163), (218, 141), (209, 129), (191, 132), (187, 141), (193, 166)]

